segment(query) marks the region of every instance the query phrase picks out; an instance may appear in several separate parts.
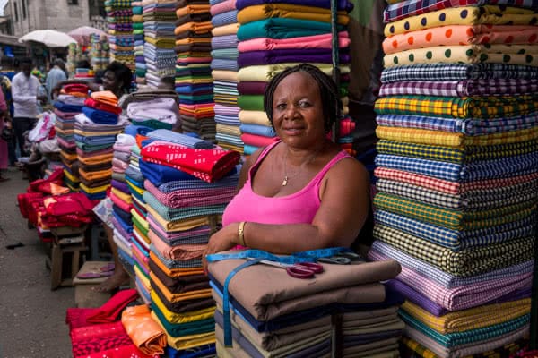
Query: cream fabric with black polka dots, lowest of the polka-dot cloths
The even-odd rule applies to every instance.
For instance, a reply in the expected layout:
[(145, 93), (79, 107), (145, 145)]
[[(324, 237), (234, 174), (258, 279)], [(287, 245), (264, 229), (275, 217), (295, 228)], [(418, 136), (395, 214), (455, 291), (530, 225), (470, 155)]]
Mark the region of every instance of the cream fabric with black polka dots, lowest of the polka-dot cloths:
[(532, 45), (438, 46), (386, 55), (386, 68), (407, 64), (523, 64), (538, 66), (538, 47)]

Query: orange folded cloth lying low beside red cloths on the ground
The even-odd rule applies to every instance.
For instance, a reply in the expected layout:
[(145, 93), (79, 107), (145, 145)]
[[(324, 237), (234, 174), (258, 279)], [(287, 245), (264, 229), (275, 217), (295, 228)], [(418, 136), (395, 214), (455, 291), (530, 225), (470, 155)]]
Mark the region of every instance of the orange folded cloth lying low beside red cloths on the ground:
[(152, 319), (148, 306), (143, 304), (127, 307), (121, 314), (121, 323), (143, 354), (164, 354), (164, 347), (168, 344), (166, 334)]

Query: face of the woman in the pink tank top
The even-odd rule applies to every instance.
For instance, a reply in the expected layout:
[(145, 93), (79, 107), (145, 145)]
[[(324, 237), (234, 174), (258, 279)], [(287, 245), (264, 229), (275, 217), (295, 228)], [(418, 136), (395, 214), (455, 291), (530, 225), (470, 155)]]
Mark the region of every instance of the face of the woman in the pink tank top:
[(325, 138), (323, 103), (317, 81), (293, 72), (274, 90), (273, 126), (286, 144), (306, 148)]

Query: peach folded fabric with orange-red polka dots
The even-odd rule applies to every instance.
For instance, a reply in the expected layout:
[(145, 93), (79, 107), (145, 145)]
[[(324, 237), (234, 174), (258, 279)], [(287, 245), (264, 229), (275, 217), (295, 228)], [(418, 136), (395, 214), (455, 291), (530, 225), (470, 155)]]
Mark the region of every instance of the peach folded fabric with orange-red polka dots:
[(452, 25), (398, 34), (383, 41), (386, 54), (423, 47), (480, 44), (538, 44), (534, 26)]

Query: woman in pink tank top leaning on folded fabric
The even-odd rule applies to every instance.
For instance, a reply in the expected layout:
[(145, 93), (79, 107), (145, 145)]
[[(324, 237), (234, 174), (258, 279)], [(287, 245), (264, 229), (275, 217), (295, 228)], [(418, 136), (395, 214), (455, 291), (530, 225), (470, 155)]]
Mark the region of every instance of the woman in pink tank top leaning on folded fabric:
[(273, 77), (264, 105), (281, 141), (247, 158), (205, 254), (237, 245), (277, 254), (351, 246), (368, 216), (369, 177), (326, 139), (342, 109), (334, 81), (300, 64)]

